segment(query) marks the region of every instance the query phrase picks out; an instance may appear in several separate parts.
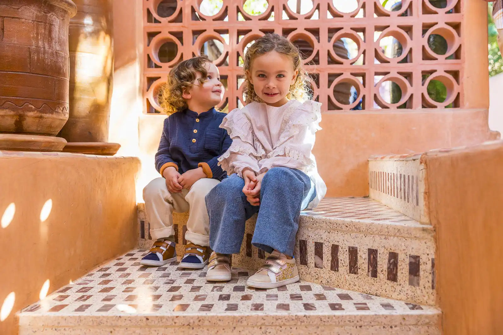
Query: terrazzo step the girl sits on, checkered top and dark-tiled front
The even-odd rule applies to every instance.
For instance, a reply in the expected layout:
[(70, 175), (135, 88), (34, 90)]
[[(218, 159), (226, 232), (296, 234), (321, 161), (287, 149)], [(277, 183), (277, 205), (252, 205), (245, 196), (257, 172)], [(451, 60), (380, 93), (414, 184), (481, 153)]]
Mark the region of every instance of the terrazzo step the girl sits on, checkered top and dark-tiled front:
[[(234, 266), (256, 270), (267, 257), (251, 245), (255, 223), (246, 222)], [(328, 198), (302, 212), (294, 255), (303, 280), (436, 303), (433, 228), (373, 199)]]

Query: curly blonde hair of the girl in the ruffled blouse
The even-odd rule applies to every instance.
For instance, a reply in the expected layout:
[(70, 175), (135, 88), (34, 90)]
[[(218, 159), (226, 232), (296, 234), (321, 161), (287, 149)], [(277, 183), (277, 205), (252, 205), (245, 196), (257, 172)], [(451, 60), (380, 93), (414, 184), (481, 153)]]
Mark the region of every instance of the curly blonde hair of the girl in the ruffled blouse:
[(292, 59), (294, 70), (298, 70), (297, 77), (293, 85), (290, 85), (290, 90), (286, 97), (289, 100), (306, 100), (308, 92), (308, 76), (302, 68), (302, 57), (299, 49), (288, 39), (278, 34), (266, 34), (255, 41), (254, 44), (248, 47), (244, 55), (244, 86), (243, 94), (246, 103), (257, 101), (264, 102), (257, 96), (253, 84), (249, 80), (248, 71), (251, 68), (253, 60), (260, 55), (271, 51), (276, 51), (280, 54), (287, 55)]

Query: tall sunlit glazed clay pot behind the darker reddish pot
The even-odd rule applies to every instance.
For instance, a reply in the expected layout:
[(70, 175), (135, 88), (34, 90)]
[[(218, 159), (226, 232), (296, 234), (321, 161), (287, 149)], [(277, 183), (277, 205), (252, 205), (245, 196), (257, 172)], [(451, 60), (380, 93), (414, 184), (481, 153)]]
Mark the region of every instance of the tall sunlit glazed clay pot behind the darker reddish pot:
[(68, 142), (106, 142), (113, 80), (111, 0), (74, 0), (70, 20), (70, 117), (60, 136)]

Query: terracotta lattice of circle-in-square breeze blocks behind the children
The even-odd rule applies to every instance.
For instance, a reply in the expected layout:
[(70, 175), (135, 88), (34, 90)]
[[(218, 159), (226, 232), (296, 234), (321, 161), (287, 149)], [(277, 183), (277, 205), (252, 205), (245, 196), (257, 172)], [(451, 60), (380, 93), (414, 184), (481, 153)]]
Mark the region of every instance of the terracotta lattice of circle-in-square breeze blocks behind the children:
[[(198, 0), (144, 0), (145, 111), (160, 109), (156, 92), (170, 68), (200, 54), (203, 47), (226, 81), (222, 106), (235, 108), (242, 100), (239, 57), (248, 43), (269, 32), (287, 36), (299, 46), (311, 73), (314, 98), (324, 110), (359, 105), (362, 109), (463, 107), (462, 2), (450, 0), (440, 9), (428, 0), (404, 0), (401, 8), (390, 11), (377, 0), (360, 0), (354, 11), (345, 13), (347, 6), (314, 0), (309, 12), (299, 14), (286, 0), (270, 0), (263, 14), (250, 15), (243, 2), (223, 0), (218, 13), (206, 16)], [(439, 36), (447, 45), (433, 47), (432, 39)], [(394, 57), (386, 56), (379, 46), (390, 37), (401, 45)], [(356, 43), (356, 54), (341, 52), (342, 38)], [(166, 49), (169, 55), (164, 54)], [(429, 96), (426, 88), (431, 80), (445, 85), (445, 101)], [(386, 98), (388, 81), (394, 83), (393, 90), (399, 87), (401, 98), (391, 102)], [(349, 92), (351, 86), (356, 91)], [(353, 96), (337, 99), (338, 91), (344, 90)]]

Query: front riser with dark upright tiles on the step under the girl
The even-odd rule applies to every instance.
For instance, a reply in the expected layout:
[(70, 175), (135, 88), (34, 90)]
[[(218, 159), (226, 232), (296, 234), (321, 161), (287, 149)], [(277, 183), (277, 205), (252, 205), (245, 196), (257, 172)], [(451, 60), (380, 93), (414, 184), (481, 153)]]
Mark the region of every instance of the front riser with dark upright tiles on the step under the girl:
[[(301, 216), (294, 252), (302, 280), (435, 305), (433, 239), (304, 228), (303, 221), (306, 219)], [(252, 218), (246, 222), (241, 253), (232, 257), (233, 266), (256, 270), (264, 263), (259, 250), (247, 244), (254, 229), (255, 219)], [(369, 253), (375, 255), (376, 252), (377, 260), (371, 257), (369, 262)], [(267, 257), (267, 254), (261, 257)], [(393, 271), (396, 258), (398, 266)]]

